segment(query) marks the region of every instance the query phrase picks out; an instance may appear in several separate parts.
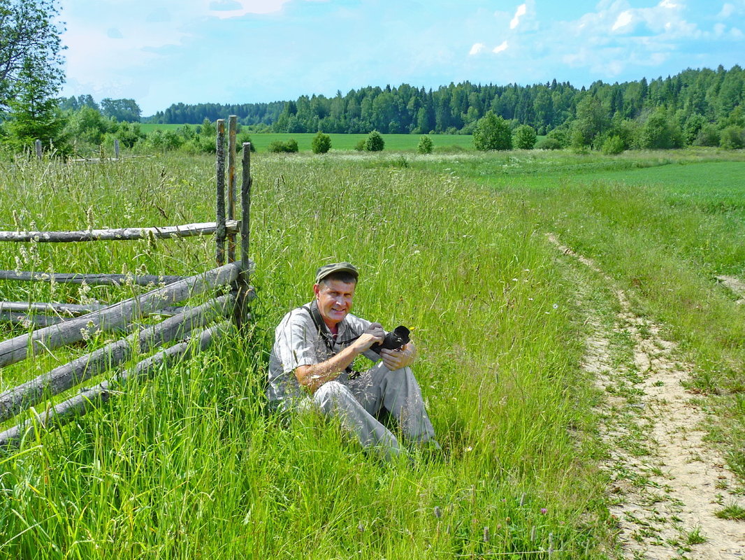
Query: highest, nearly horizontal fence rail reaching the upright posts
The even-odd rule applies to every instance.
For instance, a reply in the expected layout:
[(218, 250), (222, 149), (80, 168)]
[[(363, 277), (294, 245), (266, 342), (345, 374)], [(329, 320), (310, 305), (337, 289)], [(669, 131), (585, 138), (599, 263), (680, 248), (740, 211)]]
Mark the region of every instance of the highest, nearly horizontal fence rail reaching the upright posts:
[[(238, 232), (237, 221), (228, 221), (225, 230)], [(207, 221), (200, 224), (183, 224), (166, 227), (121, 227), (114, 230), (85, 231), (0, 231), (0, 241), (69, 243), (83, 241), (131, 241), (133, 239), (172, 239), (174, 237), (193, 237), (212, 235), (218, 224)]]

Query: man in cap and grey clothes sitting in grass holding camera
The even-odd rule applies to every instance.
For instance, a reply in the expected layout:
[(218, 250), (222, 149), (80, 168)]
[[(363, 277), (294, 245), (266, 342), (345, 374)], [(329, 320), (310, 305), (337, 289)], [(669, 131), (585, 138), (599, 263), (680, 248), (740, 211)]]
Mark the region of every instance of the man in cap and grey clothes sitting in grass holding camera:
[[(312, 402), (324, 415), (339, 418), (363, 447), (385, 456), (400, 453), (399, 441), (381, 419), (396, 419), (405, 438), (439, 448), (425, 411), (422, 392), (409, 368), (416, 357), (413, 342), (396, 350), (370, 347), (386, 335), (379, 323), (351, 315), (359, 274), (349, 262), (318, 269), (314, 299), (289, 312), (274, 335), (267, 396), (275, 409)], [(362, 373), (352, 371), (364, 354), (376, 362)]]

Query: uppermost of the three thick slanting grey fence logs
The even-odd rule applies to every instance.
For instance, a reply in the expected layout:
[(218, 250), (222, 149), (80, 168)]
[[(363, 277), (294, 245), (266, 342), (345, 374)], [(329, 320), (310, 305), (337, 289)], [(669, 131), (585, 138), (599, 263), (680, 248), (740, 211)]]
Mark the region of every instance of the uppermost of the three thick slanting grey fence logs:
[(171, 306), (206, 289), (233, 283), (240, 270), (238, 263), (229, 263), (204, 274), (197, 274), (136, 298), (116, 303), (101, 311), (0, 342), (0, 367), (26, 359), (29, 352), (54, 350), (71, 342), (78, 342), (92, 330), (114, 330), (146, 313)]

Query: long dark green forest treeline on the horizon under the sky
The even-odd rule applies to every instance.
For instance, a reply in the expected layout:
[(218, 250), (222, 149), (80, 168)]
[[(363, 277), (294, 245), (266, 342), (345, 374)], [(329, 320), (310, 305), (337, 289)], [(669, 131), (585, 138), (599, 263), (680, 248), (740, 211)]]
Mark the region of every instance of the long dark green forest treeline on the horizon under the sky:
[[(491, 110), (516, 125), (530, 125), (539, 135), (568, 125), (583, 98), (600, 105), (603, 118), (617, 122), (641, 119), (664, 108), (681, 127), (691, 117), (724, 128), (741, 124), (745, 76), (740, 66), (726, 70), (687, 69), (675, 76), (623, 84), (596, 81), (588, 88), (556, 80), (546, 84), (496, 86), (463, 82), (436, 90), (408, 84), (367, 86), (346, 95), (301, 95), (294, 101), (259, 104), (174, 104), (146, 119), (156, 123), (198, 123), (227, 114), (252, 130), (302, 133), (473, 133), (478, 119)], [(733, 114), (734, 113), (734, 114)], [(735, 119), (735, 122), (731, 122)]]

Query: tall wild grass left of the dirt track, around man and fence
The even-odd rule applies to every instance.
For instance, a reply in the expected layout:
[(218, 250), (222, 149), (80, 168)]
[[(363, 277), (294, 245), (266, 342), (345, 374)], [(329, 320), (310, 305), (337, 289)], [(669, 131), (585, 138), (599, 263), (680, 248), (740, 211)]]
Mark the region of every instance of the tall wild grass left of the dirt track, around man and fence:
[[(203, 221), (213, 170), (209, 158), (183, 157), (3, 164), (0, 221), (13, 229), (12, 210), (50, 229)], [(572, 286), (539, 216), (395, 158), (259, 154), (253, 172), (251, 335), (0, 455), (0, 558), (603, 557), (595, 394), (577, 367)], [(0, 248), (5, 268), (17, 251)], [(34, 251), (24, 266), (55, 271), (212, 266), (209, 240)], [(265, 412), (273, 327), (308, 301), (315, 268), (340, 259), (361, 270), (355, 312), (412, 328), (442, 457), (381, 464), (333, 423)], [(66, 286), (0, 289), (6, 299), (82, 297)], [(4, 387), (24, 374), (9, 370)]]

